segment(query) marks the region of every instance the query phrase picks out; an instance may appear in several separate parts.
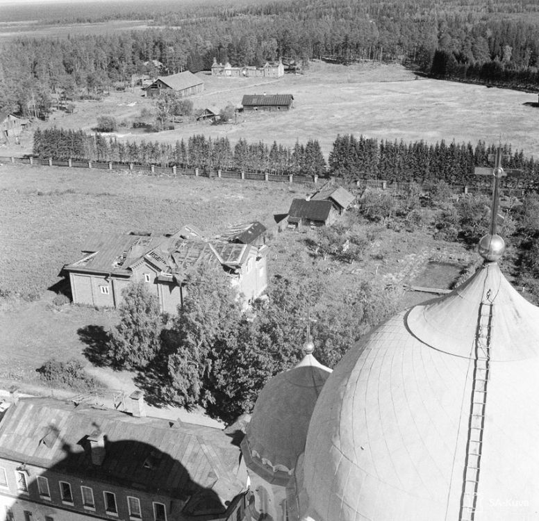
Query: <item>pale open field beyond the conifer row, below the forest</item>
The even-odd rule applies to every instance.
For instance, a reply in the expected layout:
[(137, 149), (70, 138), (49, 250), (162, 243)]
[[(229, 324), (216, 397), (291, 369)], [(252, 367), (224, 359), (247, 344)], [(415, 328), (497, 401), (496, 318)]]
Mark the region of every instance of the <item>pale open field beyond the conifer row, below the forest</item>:
[[(242, 113), (237, 124), (211, 125), (208, 122), (187, 122), (174, 131), (136, 133), (120, 129), (122, 140), (160, 140), (174, 142), (204, 133), (212, 138), (228, 137), (249, 141), (274, 140), (292, 147), (297, 139), (320, 141), (324, 154), (329, 154), (335, 136), (340, 133), (362, 134), (389, 140), (478, 140), (513, 144), (526, 155), (539, 155), (536, 139), (537, 109), (524, 106), (536, 101), (536, 95), (513, 90), (486, 88), (449, 81), (418, 78), (399, 65), (363, 64), (329, 65), (310, 63), (304, 75), (287, 74), (272, 78), (219, 78), (208, 73), (205, 91), (190, 99), (195, 108), (219, 110), (226, 104), (239, 105), (243, 94), (291, 93), (294, 110), (286, 113)], [(87, 131), (97, 123), (99, 115), (118, 119), (133, 118), (152, 101), (141, 97), (142, 91), (113, 93), (103, 101), (81, 101), (74, 115), (53, 113), (49, 122), (40, 126), (63, 126)], [(126, 104), (133, 104), (127, 106)], [(28, 135), (22, 146), (10, 149), (0, 146), (1, 154), (31, 152)]]

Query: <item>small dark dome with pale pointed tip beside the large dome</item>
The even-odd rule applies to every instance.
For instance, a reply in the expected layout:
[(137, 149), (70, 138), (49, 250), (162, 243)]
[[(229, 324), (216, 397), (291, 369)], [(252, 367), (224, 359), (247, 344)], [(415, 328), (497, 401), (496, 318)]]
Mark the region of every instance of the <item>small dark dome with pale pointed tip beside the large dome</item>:
[[(292, 369), (277, 374), (260, 391), (242, 449), (270, 472), (291, 474), (304, 452), (310, 416), (331, 369), (306, 354)], [(246, 456), (247, 465), (249, 458)]]

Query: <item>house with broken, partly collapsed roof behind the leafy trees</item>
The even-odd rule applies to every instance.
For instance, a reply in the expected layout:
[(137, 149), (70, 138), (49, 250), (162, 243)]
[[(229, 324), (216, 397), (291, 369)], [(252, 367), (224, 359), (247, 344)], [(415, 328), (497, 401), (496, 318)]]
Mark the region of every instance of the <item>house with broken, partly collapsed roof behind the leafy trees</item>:
[(165, 236), (94, 233), (83, 254), (63, 267), (76, 304), (117, 307), (128, 283), (140, 281), (162, 311), (176, 313), (188, 292), (186, 275), (200, 264), (221, 265), (245, 299), (267, 286), (267, 247), (206, 240), (192, 226)]

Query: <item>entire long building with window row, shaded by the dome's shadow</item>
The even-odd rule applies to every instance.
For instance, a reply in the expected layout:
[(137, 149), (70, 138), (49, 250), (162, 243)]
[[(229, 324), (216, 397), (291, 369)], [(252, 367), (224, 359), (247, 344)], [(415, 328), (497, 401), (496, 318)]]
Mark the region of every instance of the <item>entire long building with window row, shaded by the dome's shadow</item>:
[[(44, 397), (0, 421), (2, 520), (236, 521), (247, 472), (225, 431)], [(5, 516), (5, 517), (4, 517)]]

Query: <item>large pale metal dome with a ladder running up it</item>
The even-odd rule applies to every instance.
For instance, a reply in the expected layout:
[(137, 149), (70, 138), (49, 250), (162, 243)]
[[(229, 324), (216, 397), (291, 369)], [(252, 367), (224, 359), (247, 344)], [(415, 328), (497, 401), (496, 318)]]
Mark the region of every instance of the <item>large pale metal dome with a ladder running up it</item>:
[(495, 263), (392, 317), (326, 382), (304, 518), (539, 519), (539, 308)]

